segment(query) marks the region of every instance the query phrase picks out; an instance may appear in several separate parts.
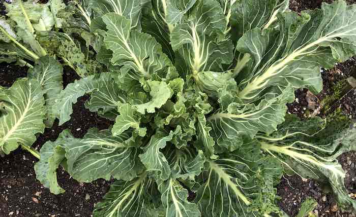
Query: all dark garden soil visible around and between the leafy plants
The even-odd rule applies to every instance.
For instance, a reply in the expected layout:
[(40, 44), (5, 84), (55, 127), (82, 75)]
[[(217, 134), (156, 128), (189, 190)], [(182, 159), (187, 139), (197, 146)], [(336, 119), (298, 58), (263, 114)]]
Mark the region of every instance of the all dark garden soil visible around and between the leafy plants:
[[(290, 0), (290, 9), (300, 12), (306, 9), (318, 8), (321, 2), (310, 0)], [(356, 0), (348, 0), (349, 4), (356, 3)], [(4, 8), (0, 3), (0, 14), (4, 15)], [(310, 100), (310, 93), (307, 90), (296, 91), (298, 100), (288, 105), (289, 113), (297, 114), (301, 118), (306, 118), (312, 112), (311, 101), (317, 103), (325, 96), (333, 93), (333, 87), (342, 79), (350, 75), (351, 68), (356, 66), (354, 60), (349, 60), (343, 64), (338, 64), (331, 70), (323, 70), (324, 81), (323, 91), (315, 96), (314, 101)], [(0, 64), (0, 85), (10, 87), (12, 83), (20, 77), (26, 76), (26, 68), (16, 65)], [(78, 77), (73, 71), (66, 68), (64, 73), (64, 86), (73, 82)], [(39, 150), (48, 140), (55, 140), (64, 129), (69, 128), (75, 137), (82, 137), (91, 127), (99, 129), (107, 128), (112, 122), (98, 117), (84, 107), (84, 102), (88, 96), (78, 99), (73, 105), (71, 120), (62, 126), (57, 122), (51, 129), (39, 135), (34, 144), (34, 148)], [(336, 107), (340, 107), (342, 112), (350, 118), (356, 118), (356, 90), (350, 91), (342, 100), (336, 102)], [(323, 114), (319, 114), (322, 116)], [(66, 190), (62, 195), (53, 195), (48, 189), (36, 179), (34, 164), (37, 159), (25, 151), (17, 150), (10, 155), (0, 158), (0, 217), (3, 216), (91, 216), (93, 207), (107, 192), (112, 181), (99, 179), (90, 184), (78, 183), (70, 178), (69, 174), (62, 169), (58, 169), (58, 183)], [(347, 171), (345, 184), (350, 194), (356, 195), (356, 152), (345, 153), (339, 157), (339, 162), (343, 169)], [(277, 186), (277, 193), (281, 197), (280, 207), (290, 216), (298, 213), (301, 202), (307, 196), (311, 196), (318, 201), (314, 210), (318, 216), (343, 216), (355, 217), (353, 212), (342, 212), (336, 206), (333, 196), (325, 192), (311, 179), (301, 179), (299, 176), (283, 177)], [(351, 194), (351, 196), (352, 196)]]

